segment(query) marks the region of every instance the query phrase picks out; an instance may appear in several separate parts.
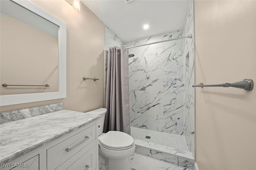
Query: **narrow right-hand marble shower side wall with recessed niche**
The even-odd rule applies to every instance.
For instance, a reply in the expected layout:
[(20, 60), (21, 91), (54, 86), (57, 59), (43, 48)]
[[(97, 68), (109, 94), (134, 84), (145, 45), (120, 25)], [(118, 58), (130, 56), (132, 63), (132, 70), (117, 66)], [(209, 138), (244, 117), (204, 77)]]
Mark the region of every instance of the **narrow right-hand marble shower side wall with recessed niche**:
[(192, 39), (184, 39), (184, 136), (188, 145), (188, 150), (195, 158), (195, 95), (194, 88), (194, 8), (193, 0), (190, 2), (188, 15), (186, 17), (184, 35), (193, 34)]

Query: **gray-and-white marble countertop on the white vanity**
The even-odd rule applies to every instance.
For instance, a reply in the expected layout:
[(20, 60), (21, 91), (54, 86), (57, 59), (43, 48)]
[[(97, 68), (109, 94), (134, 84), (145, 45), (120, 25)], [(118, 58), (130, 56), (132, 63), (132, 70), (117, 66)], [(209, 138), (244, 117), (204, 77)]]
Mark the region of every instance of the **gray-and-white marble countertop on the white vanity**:
[(0, 162), (8, 162), (99, 119), (70, 110), (54, 111), (0, 125)]

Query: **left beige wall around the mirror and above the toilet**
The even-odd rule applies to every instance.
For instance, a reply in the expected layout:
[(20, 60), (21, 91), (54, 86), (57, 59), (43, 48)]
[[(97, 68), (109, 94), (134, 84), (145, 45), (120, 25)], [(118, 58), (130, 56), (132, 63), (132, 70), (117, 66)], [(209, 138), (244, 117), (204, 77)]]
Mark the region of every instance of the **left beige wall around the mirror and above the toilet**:
[[(64, 102), (64, 108), (89, 111), (104, 107), (104, 23), (84, 4), (76, 11), (65, 0), (32, 0), (67, 26), (67, 98), (2, 106), (2, 111)], [(99, 81), (82, 80), (83, 76)]]

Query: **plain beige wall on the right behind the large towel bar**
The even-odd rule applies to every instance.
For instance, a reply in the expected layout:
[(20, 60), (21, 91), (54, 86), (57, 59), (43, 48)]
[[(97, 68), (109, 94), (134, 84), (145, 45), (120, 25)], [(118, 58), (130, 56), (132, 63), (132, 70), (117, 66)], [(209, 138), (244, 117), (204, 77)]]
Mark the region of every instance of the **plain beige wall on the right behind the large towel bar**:
[[(256, 84), (256, 1), (194, 2), (195, 81), (251, 78)], [(254, 90), (196, 88), (196, 162), (200, 170), (254, 170)]]

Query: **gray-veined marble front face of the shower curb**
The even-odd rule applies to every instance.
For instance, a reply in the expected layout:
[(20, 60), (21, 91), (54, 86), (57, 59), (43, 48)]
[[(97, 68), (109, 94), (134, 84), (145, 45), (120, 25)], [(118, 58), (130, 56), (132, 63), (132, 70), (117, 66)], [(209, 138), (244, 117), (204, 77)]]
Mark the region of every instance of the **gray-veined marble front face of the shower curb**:
[(174, 165), (183, 166), (185, 168), (194, 169), (194, 160), (184, 158), (174, 154), (168, 154), (165, 152), (159, 152), (158, 150), (149, 149), (146, 147), (136, 146), (135, 152), (138, 154), (146, 155), (151, 158), (162, 160)]

